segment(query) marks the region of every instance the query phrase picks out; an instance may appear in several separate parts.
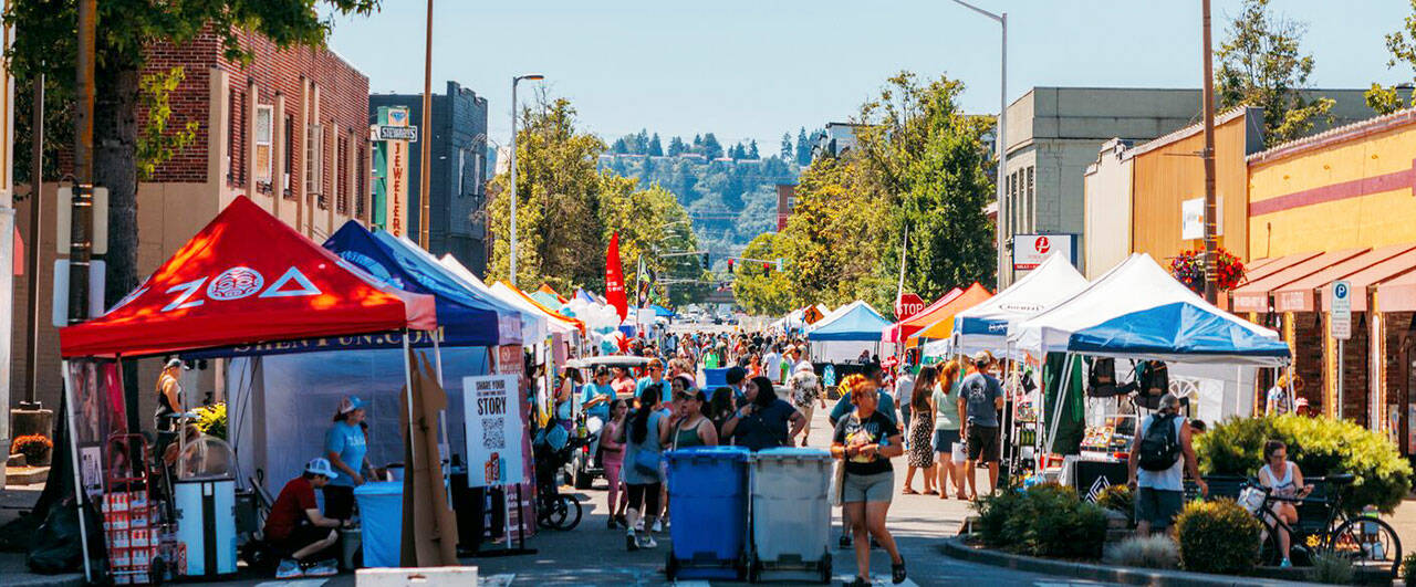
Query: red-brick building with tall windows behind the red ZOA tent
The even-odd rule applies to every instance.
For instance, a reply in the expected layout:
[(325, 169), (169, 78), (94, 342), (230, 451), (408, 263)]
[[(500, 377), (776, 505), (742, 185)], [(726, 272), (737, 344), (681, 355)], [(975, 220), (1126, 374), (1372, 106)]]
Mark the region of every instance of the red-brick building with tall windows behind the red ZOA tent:
[[(351, 218), (368, 214), (368, 78), (323, 48), (278, 50), (275, 42), (241, 33), (241, 45), (253, 52), (249, 64), (225, 58), (212, 31), (183, 45), (149, 48), (144, 74), (183, 68), (184, 81), (171, 93), (170, 127), (198, 123), (195, 140), (157, 167), (137, 188), (139, 274), (146, 276), (173, 255), (238, 195), (251, 198), (316, 242)], [(139, 124), (143, 123), (139, 116)], [(52, 184), (45, 185), (45, 218), (54, 218)], [(25, 215), (27, 216), (27, 215)], [(33, 233), (21, 219), (21, 233)], [(258, 243), (252, 243), (256, 246)], [(41, 300), (38, 399), (58, 405), (59, 342), (50, 325), (48, 284), (52, 283), (54, 233), (40, 243)], [(23, 373), (28, 293), (17, 281), (11, 366)], [(153, 365), (147, 365), (153, 364)], [(147, 392), (156, 378), (154, 361), (139, 372)], [(221, 393), (212, 375), (194, 378), (187, 389)], [(152, 413), (152, 393), (142, 393), (140, 417)]]

